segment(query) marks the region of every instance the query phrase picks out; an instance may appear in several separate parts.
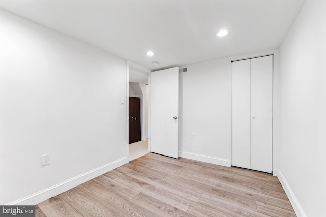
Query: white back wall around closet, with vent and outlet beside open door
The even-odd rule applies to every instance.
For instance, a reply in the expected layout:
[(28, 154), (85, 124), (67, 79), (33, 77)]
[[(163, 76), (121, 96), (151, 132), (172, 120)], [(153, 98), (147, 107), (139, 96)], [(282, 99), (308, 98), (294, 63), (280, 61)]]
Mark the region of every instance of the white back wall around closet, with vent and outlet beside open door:
[[(181, 67), (187, 67), (187, 72), (180, 73), (179, 79), (180, 157), (231, 166), (231, 60), (266, 54), (274, 54), (274, 86), (277, 86), (278, 49)], [(274, 90), (274, 96), (276, 93)], [(276, 132), (274, 138), (277, 136)], [(274, 147), (276, 150), (277, 144)], [(277, 162), (273, 163), (274, 168)]]

